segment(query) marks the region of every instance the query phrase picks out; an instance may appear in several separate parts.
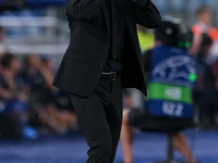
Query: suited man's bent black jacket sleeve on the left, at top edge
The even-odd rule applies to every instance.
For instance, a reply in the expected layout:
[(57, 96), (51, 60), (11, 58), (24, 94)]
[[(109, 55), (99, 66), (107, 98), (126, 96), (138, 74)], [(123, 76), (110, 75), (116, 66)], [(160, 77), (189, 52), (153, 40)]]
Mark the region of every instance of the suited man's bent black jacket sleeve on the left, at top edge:
[(66, 13), (82, 21), (89, 21), (98, 12), (104, 0), (66, 0)]

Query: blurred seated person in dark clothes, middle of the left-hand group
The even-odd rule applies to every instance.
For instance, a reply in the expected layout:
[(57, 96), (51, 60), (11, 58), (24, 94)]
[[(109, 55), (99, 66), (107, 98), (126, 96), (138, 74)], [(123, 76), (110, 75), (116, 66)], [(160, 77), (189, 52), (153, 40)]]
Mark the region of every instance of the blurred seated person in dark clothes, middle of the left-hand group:
[(49, 82), (46, 80), (43, 75), (44, 70), (41, 61), (37, 55), (27, 55), (24, 59), (24, 67), (21, 73), (21, 78), (31, 89), (28, 97), (29, 124), (37, 129), (41, 127), (40, 116), (46, 114), (45, 101), (49, 87), (51, 87)]

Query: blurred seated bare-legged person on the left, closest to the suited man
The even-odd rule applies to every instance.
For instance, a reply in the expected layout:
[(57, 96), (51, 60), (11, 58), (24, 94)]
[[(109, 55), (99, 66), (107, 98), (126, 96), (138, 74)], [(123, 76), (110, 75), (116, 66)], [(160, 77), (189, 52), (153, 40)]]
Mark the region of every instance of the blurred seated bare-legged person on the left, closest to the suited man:
[[(45, 68), (55, 73), (53, 63), (49, 58), (41, 59)], [(57, 121), (58, 133), (68, 133), (77, 129), (77, 116), (72, 108), (69, 95), (58, 88), (52, 87), (49, 91), (50, 96), (47, 98), (47, 111), (49, 115)]]

